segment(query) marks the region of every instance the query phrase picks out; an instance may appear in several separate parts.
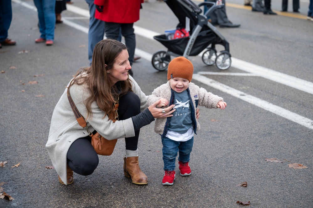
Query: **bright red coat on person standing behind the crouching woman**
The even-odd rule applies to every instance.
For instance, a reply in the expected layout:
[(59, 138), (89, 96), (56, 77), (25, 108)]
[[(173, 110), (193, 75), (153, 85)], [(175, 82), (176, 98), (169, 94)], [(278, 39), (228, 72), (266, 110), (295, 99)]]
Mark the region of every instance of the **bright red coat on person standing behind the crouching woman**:
[(103, 5), (101, 13), (96, 9), (95, 18), (112, 23), (134, 23), (139, 20), (143, 0), (94, 0), (94, 3)]

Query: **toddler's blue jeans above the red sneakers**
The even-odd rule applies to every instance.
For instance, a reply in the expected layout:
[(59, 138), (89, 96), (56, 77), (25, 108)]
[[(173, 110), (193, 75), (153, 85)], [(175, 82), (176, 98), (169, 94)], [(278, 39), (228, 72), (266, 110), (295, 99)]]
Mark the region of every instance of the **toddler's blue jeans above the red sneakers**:
[(178, 142), (164, 136), (162, 137), (162, 144), (164, 170), (175, 170), (177, 152), (179, 152), (178, 161), (189, 162), (193, 147), (193, 137), (188, 141)]

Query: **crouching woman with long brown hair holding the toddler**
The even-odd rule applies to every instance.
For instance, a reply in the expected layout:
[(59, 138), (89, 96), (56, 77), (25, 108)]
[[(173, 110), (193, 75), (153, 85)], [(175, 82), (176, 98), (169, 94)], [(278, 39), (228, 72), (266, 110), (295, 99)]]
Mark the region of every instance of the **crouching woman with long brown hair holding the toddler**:
[[(160, 99), (147, 106), (147, 98), (135, 80), (128, 76), (131, 66), (126, 46), (112, 39), (97, 43), (91, 67), (78, 73), (70, 84), (70, 95), (77, 109), (85, 118), (88, 129), (97, 131), (108, 140), (125, 138), (126, 158), (124, 174), (135, 184), (147, 184), (147, 176), (138, 164), (138, 137), (140, 128), (154, 118), (172, 116), (175, 105), (167, 105)], [(91, 137), (78, 124), (67, 98), (67, 89), (56, 104), (46, 148), (62, 184), (73, 182), (73, 171), (90, 175), (96, 169), (99, 158), (91, 145)], [(113, 104), (119, 99), (118, 118), (115, 123), (108, 119), (114, 114)], [(148, 108), (147, 108), (148, 107)], [(163, 111), (163, 112), (162, 112)], [(164, 113), (165, 111), (165, 113)]]

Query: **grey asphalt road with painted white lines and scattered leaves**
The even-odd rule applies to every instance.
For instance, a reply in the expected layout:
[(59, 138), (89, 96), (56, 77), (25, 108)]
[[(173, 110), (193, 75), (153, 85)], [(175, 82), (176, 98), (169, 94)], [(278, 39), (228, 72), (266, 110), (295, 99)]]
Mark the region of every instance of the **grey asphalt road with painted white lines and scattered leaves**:
[[(65, 186), (55, 170), (45, 168), (52, 165), (45, 144), (55, 104), (72, 75), (89, 64), (88, 6), (84, 0), (68, 6), (64, 23), (56, 25), (55, 43), (48, 47), (34, 43), (39, 30), (33, 1), (13, 0), (9, 38), (17, 45), (0, 49), (0, 162), (8, 161), (0, 168), (0, 187), (14, 200), (0, 199), (0, 207), (241, 207), (238, 200), (250, 201), (249, 207), (313, 207), (313, 22), (304, 19), (308, 1), (300, 2), (299, 14), (277, 16), (251, 12), (241, 0), (227, 3), (229, 19), (241, 24), (217, 27), (230, 43), (232, 66), (221, 71), (206, 66), (200, 56), (189, 57), (195, 66), (193, 82), (227, 102), (225, 110), (200, 108), (192, 174), (177, 174), (174, 185), (162, 185), (162, 144), (150, 124), (142, 128), (138, 147), (148, 185), (134, 185), (123, 175), (122, 139), (111, 156), (99, 156), (92, 175), (74, 173), (74, 183)], [(272, 9), (279, 11), (281, 1), (273, 0)], [(177, 23), (165, 3), (143, 4), (135, 23), (136, 53), (142, 58), (133, 72), (146, 94), (165, 83), (167, 74), (151, 65), (152, 54), (166, 49), (152, 36)], [(290, 168), (286, 160), (308, 168)], [(244, 181), (247, 187), (236, 186)]]

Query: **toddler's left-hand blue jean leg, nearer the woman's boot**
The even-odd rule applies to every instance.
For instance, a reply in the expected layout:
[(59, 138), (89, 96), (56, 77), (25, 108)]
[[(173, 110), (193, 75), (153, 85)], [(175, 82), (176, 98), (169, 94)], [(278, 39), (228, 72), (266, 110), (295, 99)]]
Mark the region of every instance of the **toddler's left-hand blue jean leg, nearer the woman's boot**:
[(162, 144), (164, 170), (175, 170), (175, 161), (180, 142), (171, 140), (164, 136), (162, 137)]

